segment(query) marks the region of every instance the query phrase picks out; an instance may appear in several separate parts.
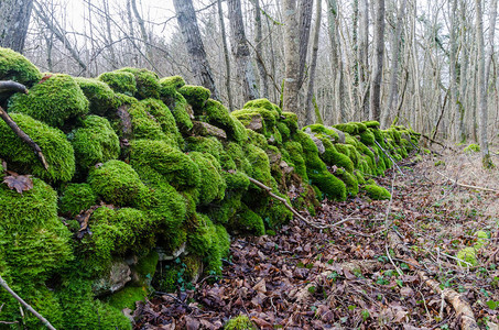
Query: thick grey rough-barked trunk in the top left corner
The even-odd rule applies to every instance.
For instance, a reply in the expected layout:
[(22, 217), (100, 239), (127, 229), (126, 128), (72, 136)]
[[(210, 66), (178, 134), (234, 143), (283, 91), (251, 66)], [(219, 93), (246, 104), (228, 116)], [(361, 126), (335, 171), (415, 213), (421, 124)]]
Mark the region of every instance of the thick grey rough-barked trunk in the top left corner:
[(0, 46), (22, 53), (33, 0), (0, 1)]

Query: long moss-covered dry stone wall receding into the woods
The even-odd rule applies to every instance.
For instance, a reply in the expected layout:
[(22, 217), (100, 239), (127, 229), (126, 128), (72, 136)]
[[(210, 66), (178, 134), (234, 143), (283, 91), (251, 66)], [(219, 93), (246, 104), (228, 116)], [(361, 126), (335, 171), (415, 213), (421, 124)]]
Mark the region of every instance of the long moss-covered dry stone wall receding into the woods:
[[(229, 113), (178, 77), (123, 68), (97, 79), (41, 74), (0, 48), (0, 80), (30, 87), (1, 100), (41, 147), (0, 121), (0, 158), (33, 175), (22, 195), (0, 185), (0, 274), (61, 329), (129, 329), (121, 314), (154, 286), (219, 275), (230, 235), (278, 231), (324, 198), (390, 194), (372, 182), (408, 156), (419, 134), (378, 122), (303, 129), (268, 101)], [(4, 173), (1, 176), (6, 175)], [(41, 324), (3, 290), (2, 321)]]

